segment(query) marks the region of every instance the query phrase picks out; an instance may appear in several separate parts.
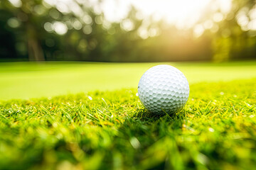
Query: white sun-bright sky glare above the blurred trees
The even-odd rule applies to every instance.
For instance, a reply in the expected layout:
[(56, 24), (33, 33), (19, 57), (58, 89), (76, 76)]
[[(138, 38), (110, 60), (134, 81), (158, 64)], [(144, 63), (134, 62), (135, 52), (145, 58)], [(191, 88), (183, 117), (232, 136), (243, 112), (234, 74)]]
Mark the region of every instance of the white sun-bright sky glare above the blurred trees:
[[(95, 1), (95, 0), (90, 0)], [(152, 16), (154, 21), (164, 19), (177, 28), (191, 28), (206, 11), (230, 11), (232, 0), (105, 0), (101, 6), (107, 20), (120, 21), (133, 5), (140, 12), (139, 18)], [(221, 17), (217, 17), (219, 20)], [(212, 19), (212, 18), (211, 18)], [(221, 18), (222, 19), (222, 18)]]

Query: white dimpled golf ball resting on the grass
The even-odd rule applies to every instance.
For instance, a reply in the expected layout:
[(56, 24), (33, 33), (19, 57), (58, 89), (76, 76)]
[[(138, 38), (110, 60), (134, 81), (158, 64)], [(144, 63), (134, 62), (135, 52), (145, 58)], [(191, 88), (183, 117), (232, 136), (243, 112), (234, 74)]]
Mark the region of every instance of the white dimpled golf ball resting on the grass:
[(138, 94), (151, 113), (176, 113), (188, 101), (189, 85), (180, 70), (166, 64), (157, 65), (142, 75)]

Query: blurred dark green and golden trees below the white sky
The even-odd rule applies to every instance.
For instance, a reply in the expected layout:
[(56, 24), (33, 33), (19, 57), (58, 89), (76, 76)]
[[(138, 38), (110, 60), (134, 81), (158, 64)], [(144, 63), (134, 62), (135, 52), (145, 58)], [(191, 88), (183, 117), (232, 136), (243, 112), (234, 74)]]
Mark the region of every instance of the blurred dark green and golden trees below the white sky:
[[(0, 61), (225, 61), (256, 56), (255, 30), (239, 24), (241, 13), (250, 18), (253, 0), (234, 0), (224, 19), (214, 23), (216, 29), (205, 29), (201, 36), (195, 36), (193, 28), (181, 30), (151, 17), (137, 18), (134, 7), (120, 23), (107, 21), (87, 0), (73, 1), (69, 7), (43, 0), (2, 0)], [(206, 13), (198, 25), (216, 12)], [(150, 24), (143, 27), (145, 20)]]

